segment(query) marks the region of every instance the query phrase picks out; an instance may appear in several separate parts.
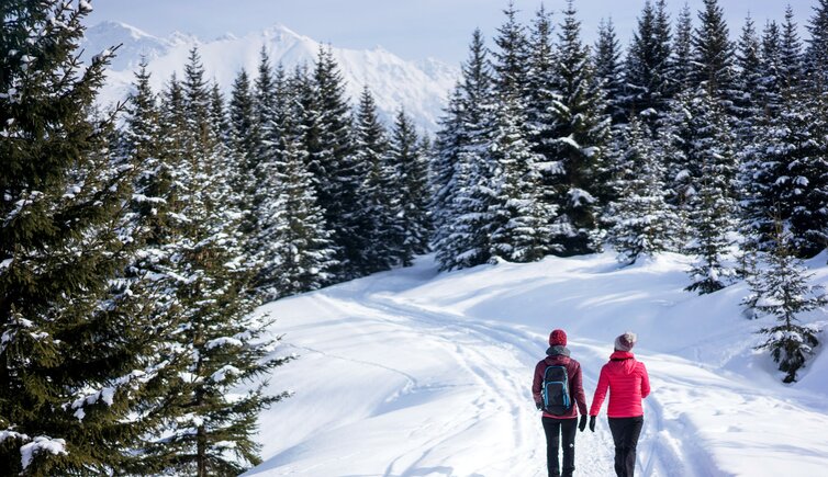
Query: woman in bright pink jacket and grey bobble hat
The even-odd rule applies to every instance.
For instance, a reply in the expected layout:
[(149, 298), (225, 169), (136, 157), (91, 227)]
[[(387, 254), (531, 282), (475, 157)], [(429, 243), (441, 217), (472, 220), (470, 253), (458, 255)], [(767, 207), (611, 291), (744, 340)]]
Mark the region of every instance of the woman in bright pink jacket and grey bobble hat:
[(615, 352), (609, 362), (601, 368), (598, 386), (590, 408), (590, 431), (595, 432), (595, 417), (601, 411), (606, 391), (609, 390), (609, 405), (606, 414), (609, 432), (615, 444), (615, 474), (618, 477), (633, 477), (636, 470), (636, 446), (644, 427), (641, 399), (650, 394), (650, 378), (644, 363), (636, 361), (633, 347), (636, 333), (627, 331), (615, 339)]

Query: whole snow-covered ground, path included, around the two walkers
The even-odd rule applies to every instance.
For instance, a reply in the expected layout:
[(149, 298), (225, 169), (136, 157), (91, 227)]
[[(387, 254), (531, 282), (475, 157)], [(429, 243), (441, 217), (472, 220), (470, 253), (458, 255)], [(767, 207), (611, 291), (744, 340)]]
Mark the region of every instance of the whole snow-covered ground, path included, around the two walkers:
[[(634, 351), (653, 389), (640, 475), (826, 475), (828, 354), (783, 385), (752, 350), (752, 332), (772, 319), (742, 317), (743, 284), (683, 292), (684, 260), (622, 269), (604, 253), (437, 273), (427, 257), (269, 304), (281, 352), (300, 355), (271, 387), (295, 395), (262, 414), (265, 462), (247, 475), (544, 476), (529, 387), (558, 327), (582, 363), (588, 404), (614, 337), (639, 333)], [(820, 283), (825, 262), (809, 262)], [(578, 434), (578, 475), (613, 474), (605, 412), (597, 432)]]

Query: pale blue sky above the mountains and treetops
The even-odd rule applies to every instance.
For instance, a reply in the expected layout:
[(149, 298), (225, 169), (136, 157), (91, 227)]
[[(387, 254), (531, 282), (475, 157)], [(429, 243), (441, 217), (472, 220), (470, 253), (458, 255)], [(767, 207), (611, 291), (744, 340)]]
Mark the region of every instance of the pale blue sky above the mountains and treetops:
[[(668, 0), (672, 18), (684, 2)], [(566, 0), (542, 3), (547, 10), (559, 12)], [(687, 3), (695, 18), (702, 0)], [(738, 34), (748, 13), (760, 30), (767, 19), (782, 20), (787, 3), (805, 34), (804, 25), (816, 0), (719, 0), (731, 35)], [(503, 21), (507, 0), (97, 0), (92, 4), (89, 24), (114, 20), (158, 36), (180, 31), (211, 39), (281, 23), (337, 47), (366, 49), (379, 45), (405, 59), (434, 57), (457, 64), (466, 59), (475, 27), (492, 38)], [(515, 0), (525, 22), (540, 4), (541, 0)], [(612, 18), (626, 45), (645, 0), (575, 0), (574, 4), (588, 42), (594, 41), (601, 19)]]

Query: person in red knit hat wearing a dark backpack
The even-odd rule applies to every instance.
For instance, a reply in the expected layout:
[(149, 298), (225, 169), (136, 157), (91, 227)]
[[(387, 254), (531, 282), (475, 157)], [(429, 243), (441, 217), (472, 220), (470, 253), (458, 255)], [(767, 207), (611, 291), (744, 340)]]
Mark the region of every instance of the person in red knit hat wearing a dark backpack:
[[(563, 330), (553, 330), (549, 334), (549, 349), (547, 356), (535, 366), (535, 378), (532, 382), (532, 395), (535, 406), (544, 411), (540, 418), (546, 434), (546, 463), (549, 477), (572, 476), (575, 472), (575, 429), (581, 432), (586, 428), (586, 396), (583, 391), (581, 377), (581, 364), (570, 357), (567, 348), (567, 333)], [(562, 366), (566, 370), (567, 384), (569, 387), (570, 407), (552, 410), (545, 407), (544, 401), (544, 376), (550, 366)], [(557, 368), (560, 370), (560, 368)], [(572, 406), (574, 402), (577, 406)], [(579, 412), (581, 421), (578, 422)], [(563, 451), (563, 466), (559, 467), (558, 450)], [(561, 474), (561, 470), (563, 473)]]

